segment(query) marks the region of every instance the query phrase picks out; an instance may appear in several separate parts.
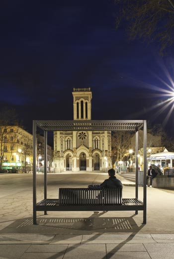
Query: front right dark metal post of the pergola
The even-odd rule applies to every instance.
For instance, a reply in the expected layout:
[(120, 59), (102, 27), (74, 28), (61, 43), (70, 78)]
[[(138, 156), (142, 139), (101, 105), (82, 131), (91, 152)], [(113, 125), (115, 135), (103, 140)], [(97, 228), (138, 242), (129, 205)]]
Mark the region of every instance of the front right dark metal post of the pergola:
[(147, 214), (147, 190), (146, 190), (146, 184), (147, 184), (147, 125), (146, 121), (144, 121), (144, 128), (143, 128), (143, 161), (144, 161), (144, 168), (143, 168), (143, 174), (144, 174), (144, 184), (143, 184), (143, 204), (144, 204), (144, 210), (143, 210), (143, 224), (146, 224), (146, 214)]

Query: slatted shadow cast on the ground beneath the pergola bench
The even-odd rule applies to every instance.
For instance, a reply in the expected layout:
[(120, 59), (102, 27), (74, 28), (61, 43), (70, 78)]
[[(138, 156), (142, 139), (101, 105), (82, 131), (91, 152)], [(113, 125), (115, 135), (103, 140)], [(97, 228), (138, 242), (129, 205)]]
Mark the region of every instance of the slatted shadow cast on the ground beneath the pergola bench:
[(5, 233), (54, 234), (54, 235), (85, 235), (85, 234), (117, 234), (137, 233), (138, 226), (132, 217), (100, 217), (105, 212), (94, 212), (88, 218), (50, 218), (38, 217), (37, 225), (32, 218), (16, 220), (0, 231)]

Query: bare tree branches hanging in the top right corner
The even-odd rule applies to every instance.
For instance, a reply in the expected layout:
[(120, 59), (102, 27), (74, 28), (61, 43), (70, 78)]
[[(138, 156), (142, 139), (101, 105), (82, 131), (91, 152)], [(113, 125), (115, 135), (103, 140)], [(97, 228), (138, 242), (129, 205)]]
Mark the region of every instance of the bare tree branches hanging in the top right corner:
[(160, 54), (174, 44), (174, 0), (115, 0), (116, 28), (126, 22), (130, 40), (159, 42)]

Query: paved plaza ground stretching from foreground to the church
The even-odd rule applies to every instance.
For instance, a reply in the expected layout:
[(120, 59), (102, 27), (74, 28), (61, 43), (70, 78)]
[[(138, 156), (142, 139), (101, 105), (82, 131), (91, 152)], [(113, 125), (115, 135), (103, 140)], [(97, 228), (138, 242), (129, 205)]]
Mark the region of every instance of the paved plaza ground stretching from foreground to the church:
[[(123, 183), (123, 198), (135, 198), (134, 183)], [(59, 187), (87, 187), (106, 173), (48, 174), (48, 198)], [(37, 174), (37, 201), (43, 199)], [(143, 187), (139, 187), (143, 199)], [(174, 259), (174, 191), (147, 188), (143, 212), (37, 212), (32, 224), (32, 174), (0, 175), (0, 259)]]

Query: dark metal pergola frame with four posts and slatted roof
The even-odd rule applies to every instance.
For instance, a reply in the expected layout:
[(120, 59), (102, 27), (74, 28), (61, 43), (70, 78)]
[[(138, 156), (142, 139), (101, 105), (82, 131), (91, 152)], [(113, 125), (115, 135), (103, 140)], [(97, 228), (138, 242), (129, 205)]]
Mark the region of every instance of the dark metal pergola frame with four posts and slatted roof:
[[(44, 131), (44, 199), (47, 199), (47, 132), (48, 131), (79, 131), (79, 130), (113, 130), (135, 131), (135, 157), (136, 157), (136, 184), (135, 198), (138, 199), (138, 131), (143, 129), (143, 154), (144, 154), (144, 187), (143, 187), (143, 224), (146, 224), (147, 194), (146, 194), (146, 171), (147, 171), (147, 123), (146, 120), (121, 120), (121, 121), (33, 121), (33, 224), (36, 224), (36, 155), (37, 138), (36, 129)], [(128, 209), (126, 209), (128, 210)], [(135, 211), (138, 214), (138, 207)], [(47, 212), (44, 211), (46, 215)]]

